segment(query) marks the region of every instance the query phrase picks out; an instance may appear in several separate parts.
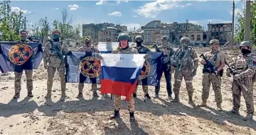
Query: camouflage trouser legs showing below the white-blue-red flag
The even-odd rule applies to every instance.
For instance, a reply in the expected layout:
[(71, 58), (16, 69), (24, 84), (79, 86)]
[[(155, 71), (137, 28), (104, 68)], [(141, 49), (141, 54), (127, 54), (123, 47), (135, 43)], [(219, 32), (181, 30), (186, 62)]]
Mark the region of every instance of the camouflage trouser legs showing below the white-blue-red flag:
[[(121, 96), (120, 95), (114, 95), (114, 110), (119, 111), (121, 109)], [(129, 112), (134, 112), (134, 98), (133, 96), (130, 96), (128, 101), (128, 110)]]

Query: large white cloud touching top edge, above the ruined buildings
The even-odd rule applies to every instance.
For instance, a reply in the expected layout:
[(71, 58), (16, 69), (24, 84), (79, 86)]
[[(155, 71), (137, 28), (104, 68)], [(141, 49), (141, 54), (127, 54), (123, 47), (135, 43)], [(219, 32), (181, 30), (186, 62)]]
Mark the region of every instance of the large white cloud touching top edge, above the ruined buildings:
[(159, 14), (160, 11), (165, 11), (172, 8), (184, 8), (186, 6), (191, 6), (191, 4), (178, 4), (179, 2), (181, 1), (156, 0), (154, 2), (139, 7), (139, 9), (135, 9), (134, 11), (138, 15), (144, 16), (145, 18), (156, 18), (156, 15)]

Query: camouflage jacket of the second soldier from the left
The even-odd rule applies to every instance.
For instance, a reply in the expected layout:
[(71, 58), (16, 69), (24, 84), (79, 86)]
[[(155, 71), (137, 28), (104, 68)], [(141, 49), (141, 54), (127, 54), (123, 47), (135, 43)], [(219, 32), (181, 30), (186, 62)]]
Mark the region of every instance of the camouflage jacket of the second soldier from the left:
[[(53, 52), (52, 49), (52, 44), (51, 42), (47, 42), (46, 43), (46, 47), (44, 49), (43, 52), (43, 64), (48, 66), (53, 66), (53, 67), (58, 67), (61, 66), (61, 64), (64, 65), (64, 57), (63, 59), (60, 59), (60, 57), (58, 56), (58, 54), (55, 54), (55, 52)], [(63, 54), (63, 56), (68, 52), (67, 49), (67, 45), (65, 42), (63, 42), (62, 44), (60, 44), (60, 54)]]

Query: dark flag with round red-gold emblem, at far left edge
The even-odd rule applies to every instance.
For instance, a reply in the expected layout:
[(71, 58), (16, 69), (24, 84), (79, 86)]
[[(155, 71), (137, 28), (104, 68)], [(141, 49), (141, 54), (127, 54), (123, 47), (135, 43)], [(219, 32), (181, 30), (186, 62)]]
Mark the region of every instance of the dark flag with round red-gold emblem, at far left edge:
[(1, 72), (38, 69), (43, 59), (41, 43), (0, 42)]

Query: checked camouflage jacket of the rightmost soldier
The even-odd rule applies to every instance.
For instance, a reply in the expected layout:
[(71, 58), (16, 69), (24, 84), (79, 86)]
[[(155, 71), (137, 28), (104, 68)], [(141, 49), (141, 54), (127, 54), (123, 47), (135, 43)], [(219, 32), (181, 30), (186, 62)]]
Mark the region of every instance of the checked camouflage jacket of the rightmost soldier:
[[(240, 78), (242, 78), (242, 82), (244, 84), (251, 84), (255, 81), (256, 78), (256, 54), (247, 54), (243, 56), (242, 54), (238, 55), (233, 59), (233, 63), (230, 64), (235, 69), (235, 73), (239, 74)], [(227, 70), (227, 74), (229, 70)]]

